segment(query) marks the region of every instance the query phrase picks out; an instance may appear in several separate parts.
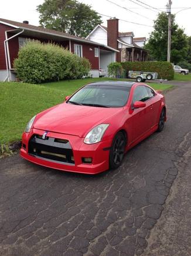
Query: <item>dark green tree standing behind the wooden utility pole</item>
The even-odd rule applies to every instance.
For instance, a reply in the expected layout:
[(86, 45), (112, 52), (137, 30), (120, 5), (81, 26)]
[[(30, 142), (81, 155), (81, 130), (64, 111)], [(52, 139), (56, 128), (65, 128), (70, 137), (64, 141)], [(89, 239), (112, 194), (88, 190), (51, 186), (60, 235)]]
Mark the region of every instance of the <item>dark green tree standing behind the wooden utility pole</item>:
[[(168, 15), (161, 12), (154, 21), (154, 31), (145, 46), (149, 55), (156, 61), (166, 61), (168, 48)], [(187, 36), (182, 28), (175, 22), (175, 15), (172, 15), (172, 38), (170, 61), (177, 64), (186, 58)]]

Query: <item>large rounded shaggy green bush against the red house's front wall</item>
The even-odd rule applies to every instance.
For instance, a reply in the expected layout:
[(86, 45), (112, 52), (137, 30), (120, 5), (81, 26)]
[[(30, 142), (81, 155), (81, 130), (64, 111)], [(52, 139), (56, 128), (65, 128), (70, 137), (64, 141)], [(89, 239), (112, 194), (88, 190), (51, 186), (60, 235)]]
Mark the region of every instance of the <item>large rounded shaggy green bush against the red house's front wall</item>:
[(14, 67), (19, 79), (31, 84), (77, 79), (87, 75), (90, 62), (62, 46), (28, 41), (20, 50)]

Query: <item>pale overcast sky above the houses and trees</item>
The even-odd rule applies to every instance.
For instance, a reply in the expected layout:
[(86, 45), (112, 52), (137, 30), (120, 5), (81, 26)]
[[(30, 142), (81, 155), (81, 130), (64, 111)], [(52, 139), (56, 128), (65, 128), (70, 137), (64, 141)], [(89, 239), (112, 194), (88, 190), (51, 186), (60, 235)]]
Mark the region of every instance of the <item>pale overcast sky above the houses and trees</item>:
[[(152, 31), (154, 24), (153, 20), (158, 14), (158, 10), (152, 9), (149, 6), (145, 6), (149, 9), (143, 8), (140, 2), (134, 4), (131, 0), (110, 0), (118, 5), (128, 8), (130, 11), (120, 8), (107, 0), (79, 0), (84, 4), (89, 4), (92, 8), (100, 14), (124, 19), (125, 21), (136, 22), (148, 26), (135, 25), (129, 22), (121, 21), (119, 23), (120, 31), (133, 31), (136, 37), (146, 36), (148, 38), (149, 33)], [(139, 0), (154, 8), (165, 10), (165, 6), (168, 0)], [(0, 18), (11, 19), (13, 21), (22, 22), (28, 20), (32, 25), (39, 25), (39, 14), (36, 12), (36, 6), (42, 4), (44, 0), (1, 0)], [(142, 4), (141, 4), (142, 5)], [(189, 8), (185, 11), (180, 11), (180, 8)], [(163, 9), (162, 9), (163, 8)], [(178, 22), (181, 28), (185, 29), (187, 35), (191, 36), (191, 1), (190, 0), (172, 0), (172, 13), (180, 11), (176, 15), (176, 22)], [(137, 12), (135, 14), (133, 12)], [(141, 16), (142, 15), (142, 16)], [(145, 16), (145, 17), (144, 17)], [(103, 16), (103, 25), (107, 25), (107, 17)]]

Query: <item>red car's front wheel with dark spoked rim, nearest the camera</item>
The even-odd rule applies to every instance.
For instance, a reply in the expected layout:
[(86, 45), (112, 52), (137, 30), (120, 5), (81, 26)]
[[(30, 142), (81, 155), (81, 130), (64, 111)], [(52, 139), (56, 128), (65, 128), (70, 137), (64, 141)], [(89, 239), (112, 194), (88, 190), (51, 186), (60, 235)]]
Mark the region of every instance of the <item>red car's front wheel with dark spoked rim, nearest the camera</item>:
[(118, 132), (110, 148), (109, 165), (111, 169), (117, 169), (122, 163), (125, 154), (126, 138), (122, 132)]

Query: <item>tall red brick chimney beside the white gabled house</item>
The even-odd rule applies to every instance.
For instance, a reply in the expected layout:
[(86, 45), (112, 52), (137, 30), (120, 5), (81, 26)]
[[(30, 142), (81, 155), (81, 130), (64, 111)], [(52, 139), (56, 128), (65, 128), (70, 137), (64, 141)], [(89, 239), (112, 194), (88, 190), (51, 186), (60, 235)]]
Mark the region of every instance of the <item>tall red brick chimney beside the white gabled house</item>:
[(116, 18), (107, 20), (107, 45), (114, 49), (118, 49), (118, 21)]

